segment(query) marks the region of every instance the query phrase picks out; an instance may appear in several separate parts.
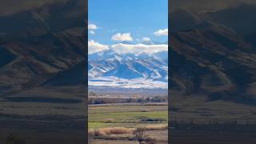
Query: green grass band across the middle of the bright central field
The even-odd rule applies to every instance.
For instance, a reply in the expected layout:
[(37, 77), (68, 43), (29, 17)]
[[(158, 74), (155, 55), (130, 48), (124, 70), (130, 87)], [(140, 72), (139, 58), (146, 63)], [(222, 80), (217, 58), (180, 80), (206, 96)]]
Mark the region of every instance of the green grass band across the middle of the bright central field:
[(166, 124), (168, 110), (167, 106), (94, 106), (88, 120), (89, 128)]

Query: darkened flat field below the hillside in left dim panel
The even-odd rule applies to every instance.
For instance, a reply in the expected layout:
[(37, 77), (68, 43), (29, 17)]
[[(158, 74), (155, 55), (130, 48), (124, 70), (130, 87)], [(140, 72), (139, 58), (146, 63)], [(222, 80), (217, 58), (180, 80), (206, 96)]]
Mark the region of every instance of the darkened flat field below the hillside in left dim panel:
[(0, 143), (10, 134), (26, 144), (86, 141), (83, 86), (38, 87), (0, 98)]

